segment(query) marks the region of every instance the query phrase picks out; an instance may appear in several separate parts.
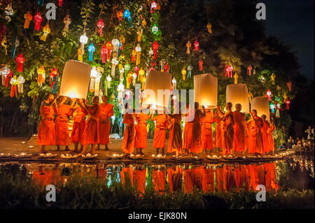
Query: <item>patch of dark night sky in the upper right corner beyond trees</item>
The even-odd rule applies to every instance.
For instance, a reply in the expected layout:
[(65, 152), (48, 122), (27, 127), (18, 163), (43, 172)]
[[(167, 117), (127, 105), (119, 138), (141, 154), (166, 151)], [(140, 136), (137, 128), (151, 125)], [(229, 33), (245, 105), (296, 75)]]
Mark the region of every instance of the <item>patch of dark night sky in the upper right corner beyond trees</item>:
[(301, 73), (314, 80), (314, 0), (262, 0), (267, 9), (266, 32), (297, 52)]

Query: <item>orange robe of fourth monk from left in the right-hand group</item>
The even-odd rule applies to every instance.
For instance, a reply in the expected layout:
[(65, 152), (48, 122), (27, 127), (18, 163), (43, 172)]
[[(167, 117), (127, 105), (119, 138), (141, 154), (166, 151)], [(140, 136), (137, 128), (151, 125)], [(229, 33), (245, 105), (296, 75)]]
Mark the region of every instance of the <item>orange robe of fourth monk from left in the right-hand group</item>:
[(169, 144), (167, 146), (167, 152), (181, 153), (183, 147), (181, 140), (181, 114), (170, 115), (172, 117), (169, 128)]

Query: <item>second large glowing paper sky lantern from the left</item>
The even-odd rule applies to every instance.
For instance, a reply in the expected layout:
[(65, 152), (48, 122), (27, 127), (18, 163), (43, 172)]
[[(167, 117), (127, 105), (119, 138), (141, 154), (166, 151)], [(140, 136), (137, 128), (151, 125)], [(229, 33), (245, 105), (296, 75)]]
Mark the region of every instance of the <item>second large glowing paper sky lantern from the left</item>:
[[(165, 94), (158, 94), (158, 90), (161, 89)], [(172, 74), (165, 73), (161, 71), (151, 70), (146, 77), (146, 82), (144, 84), (144, 92), (143, 92), (143, 102), (142, 107), (145, 108), (148, 105), (155, 106), (157, 108), (168, 106), (169, 97), (172, 89)], [(154, 96), (150, 95), (149, 92), (154, 92)]]

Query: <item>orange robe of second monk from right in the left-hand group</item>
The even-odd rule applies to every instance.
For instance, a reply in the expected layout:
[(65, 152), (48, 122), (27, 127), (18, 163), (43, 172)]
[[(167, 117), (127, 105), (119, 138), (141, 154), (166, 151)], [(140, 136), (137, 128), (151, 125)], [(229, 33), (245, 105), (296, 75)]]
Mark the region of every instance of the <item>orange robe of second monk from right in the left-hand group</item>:
[(88, 113), (90, 116), (87, 118), (85, 129), (83, 131), (82, 145), (97, 144), (97, 122), (99, 119), (99, 105), (89, 106)]

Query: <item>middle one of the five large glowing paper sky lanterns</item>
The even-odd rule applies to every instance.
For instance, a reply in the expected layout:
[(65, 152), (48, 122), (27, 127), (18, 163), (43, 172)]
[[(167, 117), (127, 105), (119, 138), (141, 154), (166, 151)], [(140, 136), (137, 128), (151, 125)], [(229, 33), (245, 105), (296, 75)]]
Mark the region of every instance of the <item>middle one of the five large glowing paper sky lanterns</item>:
[(206, 108), (216, 108), (218, 103), (218, 78), (210, 73), (194, 76), (195, 101)]

